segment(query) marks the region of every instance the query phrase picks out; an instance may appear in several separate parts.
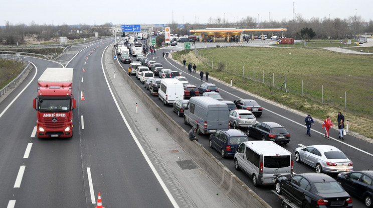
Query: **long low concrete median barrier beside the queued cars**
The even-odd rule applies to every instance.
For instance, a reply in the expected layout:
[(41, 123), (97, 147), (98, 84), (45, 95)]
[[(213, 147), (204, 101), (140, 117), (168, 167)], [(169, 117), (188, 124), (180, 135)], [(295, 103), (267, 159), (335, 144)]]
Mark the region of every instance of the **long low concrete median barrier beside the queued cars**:
[[(109, 47), (107, 50), (114, 49)], [(157, 121), (163, 125), (173, 139), (188, 153), (193, 160), (209, 175), (209, 177), (226, 193), (231, 200), (239, 207), (271, 207), (253, 190), (251, 190), (243, 181), (237, 178), (227, 167), (217, 160), (209, 151), (196, 141), (191, 142), (188, 133), (184, 131), (176, 122), (174, 122), (156, 103), (145, 94), (144, 91), (128, 76), (127, 69), (112, 58), (115, 67), (126, 82), (130, 83), (130, 88), (138, 94), (138, 98)], [(168, 128), (168, 127), (174, 128)]]

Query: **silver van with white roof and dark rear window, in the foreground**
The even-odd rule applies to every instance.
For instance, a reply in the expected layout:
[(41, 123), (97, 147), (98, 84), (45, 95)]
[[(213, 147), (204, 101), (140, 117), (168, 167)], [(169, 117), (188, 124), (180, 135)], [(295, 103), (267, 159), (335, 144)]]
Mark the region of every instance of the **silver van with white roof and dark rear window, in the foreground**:
[(293, 173), (291, 153), (272, 141), (243, 142), (236, 149), (234, 165), (252, 178), (254, 186), (274, 185), (280, 175)]

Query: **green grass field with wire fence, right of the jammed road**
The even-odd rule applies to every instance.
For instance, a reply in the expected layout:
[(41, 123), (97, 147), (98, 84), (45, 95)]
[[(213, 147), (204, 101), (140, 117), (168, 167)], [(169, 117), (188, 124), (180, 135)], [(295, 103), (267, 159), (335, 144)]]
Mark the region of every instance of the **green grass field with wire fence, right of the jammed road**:
[[(350, 130), (373, 138), (371, 55), (307, 48), (224, 47), (200, 49), (197, 60), (194, 51), (187, 52), (176, 52), (172, 57), (180, 62), (185, 58), (187, 62), (196, 63), (197, 70), (209, 70), (210, 76), (227, 83), (232, 79), (237, 87), (319, 119), (327, 115), (334, 118), (342, 111), (350, 118)], [(222, 71), (218, 70), (219, 61)], [(364, 128), (364, 125), (367, 126)]]

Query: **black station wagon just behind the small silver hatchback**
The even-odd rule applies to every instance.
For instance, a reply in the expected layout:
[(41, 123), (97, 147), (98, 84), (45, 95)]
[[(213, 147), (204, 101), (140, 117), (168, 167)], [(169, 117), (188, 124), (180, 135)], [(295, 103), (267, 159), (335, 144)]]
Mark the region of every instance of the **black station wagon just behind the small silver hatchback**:
[(259, 122), (246, 129), (247, 136), (255, 139), (270, 140), (276, 144), (287, 144), (290, 142), (290, 134), (285, 127), (275, 122)]

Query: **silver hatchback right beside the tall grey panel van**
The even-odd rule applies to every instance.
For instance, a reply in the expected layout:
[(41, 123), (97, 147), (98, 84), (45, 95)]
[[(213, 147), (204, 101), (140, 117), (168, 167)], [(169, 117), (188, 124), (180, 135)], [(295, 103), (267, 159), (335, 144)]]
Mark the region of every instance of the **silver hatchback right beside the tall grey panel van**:
[(256, 124), (256, 118), (249, 110), (232, 110), (229, 112), (229, 123), (233, 129)]

